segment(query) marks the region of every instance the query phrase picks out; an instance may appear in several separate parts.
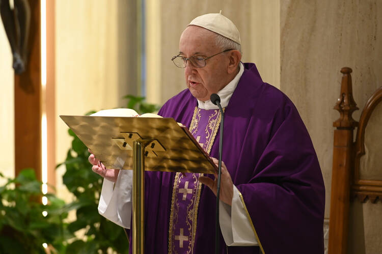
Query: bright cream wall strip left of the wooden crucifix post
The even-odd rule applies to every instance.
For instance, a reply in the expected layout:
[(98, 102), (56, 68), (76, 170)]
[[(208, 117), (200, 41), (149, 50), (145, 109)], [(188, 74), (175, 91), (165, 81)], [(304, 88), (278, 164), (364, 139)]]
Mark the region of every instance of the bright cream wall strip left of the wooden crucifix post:
[[(14, 177), (14, 78), (12, 53), (0, 19), (0, 172)], [(0, 185), (4, 182), (0, 181)]]

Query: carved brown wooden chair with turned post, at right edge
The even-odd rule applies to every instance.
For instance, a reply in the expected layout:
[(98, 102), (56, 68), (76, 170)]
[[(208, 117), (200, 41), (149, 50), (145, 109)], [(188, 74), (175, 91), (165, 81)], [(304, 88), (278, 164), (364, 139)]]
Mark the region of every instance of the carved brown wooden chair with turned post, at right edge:
[[(351, 69), (344, 67), (335, 109), (329, 254), (382, 253), (382, 87), (366, 103), (359, 122), (351, 87)], [(358, 126), (356, 142), (354, 128)]]

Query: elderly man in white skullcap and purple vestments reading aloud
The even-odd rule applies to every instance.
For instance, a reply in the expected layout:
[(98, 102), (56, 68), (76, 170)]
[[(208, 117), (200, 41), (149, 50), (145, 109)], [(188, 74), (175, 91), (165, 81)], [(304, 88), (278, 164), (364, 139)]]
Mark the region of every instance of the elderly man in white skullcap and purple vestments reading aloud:
[[(189, 23), (172, 61), (188, 89), (159, 110), (219, 154), (217, 106), (225, 108), (219, 253), (323, 253), (324, 186), (309, 134), (293, 103), (242, 64), (236, 26), (222, 14)], [(131, 171), (104, 170), (99, 212), (130, 228)], [(217, 163), (217, 160), (215, 160)], [(146, 172), (146, 253), (213, 253), (214, 176)], [(208, 187), (206, 187), (208, 186)], [(130, 234), (131, 239), (131, 234)]]

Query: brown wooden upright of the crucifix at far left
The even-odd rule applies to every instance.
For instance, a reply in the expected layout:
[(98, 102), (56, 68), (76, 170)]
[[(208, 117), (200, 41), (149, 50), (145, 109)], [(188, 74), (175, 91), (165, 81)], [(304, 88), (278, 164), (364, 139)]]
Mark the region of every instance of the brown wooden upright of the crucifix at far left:
[(41, 180), (41, 30), (40, 1), (29, 1), (31, 24), (28, 65), (15, 75), (15, 174), (32, 167)]

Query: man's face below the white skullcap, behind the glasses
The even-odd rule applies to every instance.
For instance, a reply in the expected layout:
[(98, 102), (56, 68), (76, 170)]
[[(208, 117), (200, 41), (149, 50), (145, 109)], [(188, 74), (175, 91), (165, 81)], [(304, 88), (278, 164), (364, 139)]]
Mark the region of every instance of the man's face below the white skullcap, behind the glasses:
[[(215, 33), (202, 27), (188, 26), (180, 37), (180, 55), (185, 58), (193, 55), (207, 58), (223, 51), (224, 49), (215, 45), (215, 36)], [(197, 68), (187, 61), (184, 69), (187, 88), (198, 100), (209, 100), (211, 94), (217, 93), (231, 81), (227, 72), (228, 64), (229, 58), (226, 53), (206, 60), (206, 66), (203, 68)]]

